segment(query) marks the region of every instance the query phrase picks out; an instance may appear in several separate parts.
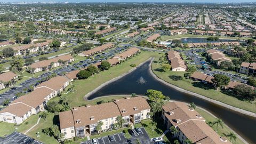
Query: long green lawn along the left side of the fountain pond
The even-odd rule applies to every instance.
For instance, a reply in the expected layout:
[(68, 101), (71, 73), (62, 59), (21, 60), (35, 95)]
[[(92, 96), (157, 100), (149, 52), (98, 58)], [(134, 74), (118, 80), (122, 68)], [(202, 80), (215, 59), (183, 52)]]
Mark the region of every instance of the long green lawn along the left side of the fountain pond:
[(156, 55), (158, 55), (156, 52), (142, 51), (139, 55), (136, 55), (117, 66), (111, 67), (109, 70), (101, 71), (99, 74), (95, 74), (87, 79), (74, 81), (73, 85), (75, 86), (75, 92), (69, 94), (72, 99), (72, 102), (70, 103), (71, 107), (81, 106), (85, 103), (83, 99), (85, 94), (91, 92), (110, 79), (126, 73), (132, 69), (132, 67), (130, 67), (131, 64), (139, 65), (141, 62), (144, 62), (150, 57), (155, 57)]

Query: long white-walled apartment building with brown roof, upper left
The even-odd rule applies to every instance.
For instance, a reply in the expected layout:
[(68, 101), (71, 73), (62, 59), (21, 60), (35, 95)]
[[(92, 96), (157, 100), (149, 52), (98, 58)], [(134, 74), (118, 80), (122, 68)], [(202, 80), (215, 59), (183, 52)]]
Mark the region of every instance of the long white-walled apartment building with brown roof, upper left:
[(43, 42), (43, 43), (36, 43), (36, 44), (26, 44), (12, 47), (14, 50), (14, 56), (16, 55), (25, 55), (26, 53), (37, 52), (40, 49), (45, 50), (49, 46), (51, 41)]

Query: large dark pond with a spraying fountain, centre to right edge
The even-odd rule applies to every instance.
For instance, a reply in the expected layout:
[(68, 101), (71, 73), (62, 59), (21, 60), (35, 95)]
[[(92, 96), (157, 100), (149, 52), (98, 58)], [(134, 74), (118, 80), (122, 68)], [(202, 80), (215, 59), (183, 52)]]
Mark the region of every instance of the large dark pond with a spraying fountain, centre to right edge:
[(164, 95), (170, 97), (171, 100), (194, 102), (197, 106), (202, 107), (213, 115), (222, 119), (231, 129), (241, 135), (247, 142), (255, 143), (256, 137), (256, 118), (243, 115), (236, 111), (225, 107), (215, 105), (212, 102), (194, 97), (186, 93), (182, 93), (171, 87), (157, 81), (150, 74), (150, 61), (132, 71), (132, 73), (112, 82), (99, 91), (93, 93), (87, 99), (102, 97), (105, 95), (131, 94), (136, 93), (144, 95), (148, 89), (162, 91)]

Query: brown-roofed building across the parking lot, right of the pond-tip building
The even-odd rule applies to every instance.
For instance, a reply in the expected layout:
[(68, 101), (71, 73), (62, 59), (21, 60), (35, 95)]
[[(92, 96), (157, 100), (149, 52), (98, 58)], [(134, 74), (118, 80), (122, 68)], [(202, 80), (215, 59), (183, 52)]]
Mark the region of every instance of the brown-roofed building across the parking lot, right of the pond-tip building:
[(225, 54), (214, 49), (207, 50), (206, 53), (217, 66), (219, 66), (222, 61), (231, 61), (231, 59), (226, 57)]

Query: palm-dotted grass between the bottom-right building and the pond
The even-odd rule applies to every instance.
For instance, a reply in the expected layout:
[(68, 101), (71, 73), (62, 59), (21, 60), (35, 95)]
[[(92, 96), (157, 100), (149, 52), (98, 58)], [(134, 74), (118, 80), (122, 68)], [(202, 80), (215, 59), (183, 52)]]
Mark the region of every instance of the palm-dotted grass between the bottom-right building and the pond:
[[(216, 119), (216, 118), (213, 117), (211, 114), (207, 113), (206, 111), (204, 111), (204, 110), (202, 110), (202, 109), (196, 108), (196, 111), (206, 119), (206, 122), (213, 122), (213, 121), (215, 121), (215, 119)], [(212, 129), (213, 129), (213, 130), (216, 130), (216, 126), (214, 125), (214, 126), (212, 127)], [(225, 125), (223, 125), (223, 129), (222, 129), (221, 127), (219, 127), (217, 133), (218, 133), (220, 136), (224, 136), (224, 137), (225, 137), (224, 134), (229, 134), (230, 132), (232, 132), (232, 131), (231, 131), (231, 130), (227, 127), (227, 125), (225, 124)], [(230, 141), (229, 137), (226, 137), (226, 138), (228, 138), (228, 140)], [(243, 142), (241, 139), (237, 138), (236, 141), (233, 140), (232, 143), (233, 143), (233, 144), (241, 144), (241, 143), (244, 143), (244, 142)]]

